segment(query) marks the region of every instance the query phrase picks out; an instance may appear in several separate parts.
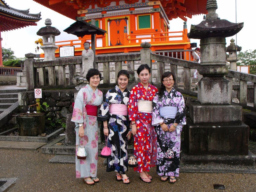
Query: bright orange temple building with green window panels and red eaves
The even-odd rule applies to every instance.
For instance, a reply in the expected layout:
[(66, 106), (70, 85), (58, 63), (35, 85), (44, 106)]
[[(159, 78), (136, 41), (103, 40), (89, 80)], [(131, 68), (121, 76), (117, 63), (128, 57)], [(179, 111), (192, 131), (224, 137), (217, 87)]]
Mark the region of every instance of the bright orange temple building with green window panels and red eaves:
[[(141, 42), (149, 42), (152, 51), (191, 49), (187, 28), (171, 32), (169, 20), (187, 21), (193, 15), (206, 14), (207, 0), (34, 0), (71, 19), (95, 20), (95, 25), (105, 31), (96, 35), (96, 54), (137, 52)], [(186, 25), (184, 25), (186, 26)], [(67, 26), (68, 27), (68, 26)], [(75, 46), (75, 55), (81, 55), (85, 41), (56, 42), (61, 46)], [(55, 52), (59, 57), (59, 49)], [(43, 56), (43, 55), (41, 55)]]

